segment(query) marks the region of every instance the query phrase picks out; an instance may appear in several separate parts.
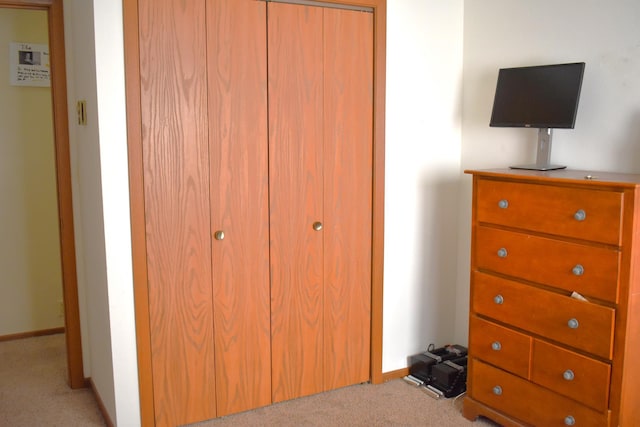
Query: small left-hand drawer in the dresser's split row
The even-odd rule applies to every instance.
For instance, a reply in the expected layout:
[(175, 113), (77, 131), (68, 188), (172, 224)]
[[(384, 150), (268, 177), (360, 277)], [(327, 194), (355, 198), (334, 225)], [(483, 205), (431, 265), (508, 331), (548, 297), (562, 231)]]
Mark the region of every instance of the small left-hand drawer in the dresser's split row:
[(531, 360), (530, 336), (504, 326), (471, 316), (469, 319), (469, 352), (523, 378), (529, 378)]

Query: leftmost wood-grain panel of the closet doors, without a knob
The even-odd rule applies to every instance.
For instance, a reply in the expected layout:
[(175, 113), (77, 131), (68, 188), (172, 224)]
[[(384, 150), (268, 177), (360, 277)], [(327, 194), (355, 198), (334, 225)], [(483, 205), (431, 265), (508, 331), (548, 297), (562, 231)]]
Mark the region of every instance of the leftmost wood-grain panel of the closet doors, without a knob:
[(216, 416), (205, 1), (139, 14), (153, 403), (174, 426)]

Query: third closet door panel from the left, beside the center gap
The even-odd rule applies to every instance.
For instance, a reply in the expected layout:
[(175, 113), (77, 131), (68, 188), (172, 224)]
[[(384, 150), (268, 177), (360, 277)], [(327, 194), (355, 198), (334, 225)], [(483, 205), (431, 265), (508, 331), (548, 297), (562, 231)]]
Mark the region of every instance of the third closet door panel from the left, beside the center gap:
[(323, 390), (322, 9), (268, 5), (274, 402)]

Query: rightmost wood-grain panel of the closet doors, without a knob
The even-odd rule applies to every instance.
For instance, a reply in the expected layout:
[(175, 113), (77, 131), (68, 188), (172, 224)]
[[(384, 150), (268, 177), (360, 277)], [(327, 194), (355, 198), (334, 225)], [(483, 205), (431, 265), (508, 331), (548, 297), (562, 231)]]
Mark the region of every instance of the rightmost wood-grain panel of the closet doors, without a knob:
[(324, 388), (369, 379), (373, 14), (324, 10)]

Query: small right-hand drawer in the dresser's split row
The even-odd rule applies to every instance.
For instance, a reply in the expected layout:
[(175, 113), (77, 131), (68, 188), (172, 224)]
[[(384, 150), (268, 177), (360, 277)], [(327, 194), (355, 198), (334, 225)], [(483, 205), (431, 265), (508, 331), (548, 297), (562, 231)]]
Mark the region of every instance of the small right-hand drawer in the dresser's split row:
[(611, 366), (540, 340), (533, 343), (531, 380), (598, 411), (609, 407)]

